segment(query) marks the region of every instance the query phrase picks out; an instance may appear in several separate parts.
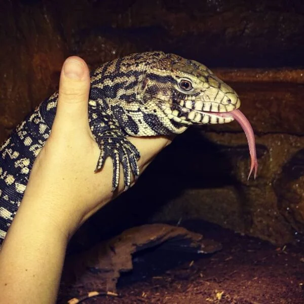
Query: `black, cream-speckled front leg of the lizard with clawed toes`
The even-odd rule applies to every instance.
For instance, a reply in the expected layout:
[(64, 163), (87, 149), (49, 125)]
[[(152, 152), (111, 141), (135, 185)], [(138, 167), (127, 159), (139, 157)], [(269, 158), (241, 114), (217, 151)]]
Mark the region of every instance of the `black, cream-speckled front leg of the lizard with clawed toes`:
[(112, 191), (118, 186), (120, 165), (124, 173), (125, 189), (131, 184), (131, 173), (135, 179), (139, 175), (137, 160), (138, 149), (126, 138), (119, 124), (98, 105), (89, 107), (90, 128), (100, 149), (96, 171), (102, 169), (105, 160), (110, 157), (113, 162)]

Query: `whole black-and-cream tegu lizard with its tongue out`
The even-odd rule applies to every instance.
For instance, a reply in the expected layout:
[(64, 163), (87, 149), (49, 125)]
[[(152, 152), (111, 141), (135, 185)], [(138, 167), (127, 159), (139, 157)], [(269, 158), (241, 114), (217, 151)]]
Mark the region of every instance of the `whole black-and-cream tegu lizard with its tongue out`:
[[(0, 245), (21, 203), (36, 156), (48, 139), (58, 92), (17, 126), (0, 149)], [(100, 148), (96, 171), (113, 161), (113, 191), (120, 166), (128, 188), (139, 174), (137, 148), (127, 136), (172, 135), (191, 125), (234, 119), (249, 143), (251, 170), (257, 170), (252, 128), (238, 110), (237, 93), (205, 65), (174, 54), (145, 52), (102, 64), (91, 72), (89, 124)], [(250, 175), (249, 174), (249, 175)]]

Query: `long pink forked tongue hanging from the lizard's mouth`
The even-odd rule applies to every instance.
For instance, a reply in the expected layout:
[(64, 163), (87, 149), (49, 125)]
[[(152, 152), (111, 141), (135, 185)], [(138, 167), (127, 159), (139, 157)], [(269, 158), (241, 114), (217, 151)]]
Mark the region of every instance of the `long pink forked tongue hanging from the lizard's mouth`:
[(240, 111), (240, 110), (233, 110), (231, 112), (226, 112), (226, 113), (221, 113), (222, 117), (233, 117), (243, 128), (248, 145), (249, 145), (249, 153), (251, 157), (251, 167), (250, 167), (250, 172), (248, 175), (248, 179), (254, 169), (254, 179), (256, 178), (256, 173), (257, 173), (257, 159), (256, 159), (256, 149), (255, 149), (255, 139), (254, 139), (254, 133), (252, 130), (252, 127), (245, 117), (245, 115)]

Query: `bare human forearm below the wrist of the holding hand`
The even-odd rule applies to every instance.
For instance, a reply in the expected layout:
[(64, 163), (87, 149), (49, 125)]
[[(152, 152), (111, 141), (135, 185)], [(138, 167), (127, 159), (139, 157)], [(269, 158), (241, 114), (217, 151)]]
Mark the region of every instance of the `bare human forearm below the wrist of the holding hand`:
[(20, 207), (1, 249), (1, 304), (56, 302), (68, 239), (38, 204), (28, 203)]

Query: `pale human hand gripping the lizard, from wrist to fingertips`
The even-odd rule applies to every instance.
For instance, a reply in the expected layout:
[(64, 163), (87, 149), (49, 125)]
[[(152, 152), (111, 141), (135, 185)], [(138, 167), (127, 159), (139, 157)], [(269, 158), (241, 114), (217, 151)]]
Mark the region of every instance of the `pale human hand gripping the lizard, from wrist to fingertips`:
[[(89, 69), (84, 60), (68, 58), (61, 72), (51, 135), (34, 162), (21, 204), (39, 204), (40, 214), (56, 222), (68, 236), (124, 189), (121, 170), (118, 190), (111, 192), (110, 158), (94, 173), (100, 150), (89, 127), (89, 89)], [(165, 137), (129, 140), (140, 151), (140, 173), (170, 143)]]

